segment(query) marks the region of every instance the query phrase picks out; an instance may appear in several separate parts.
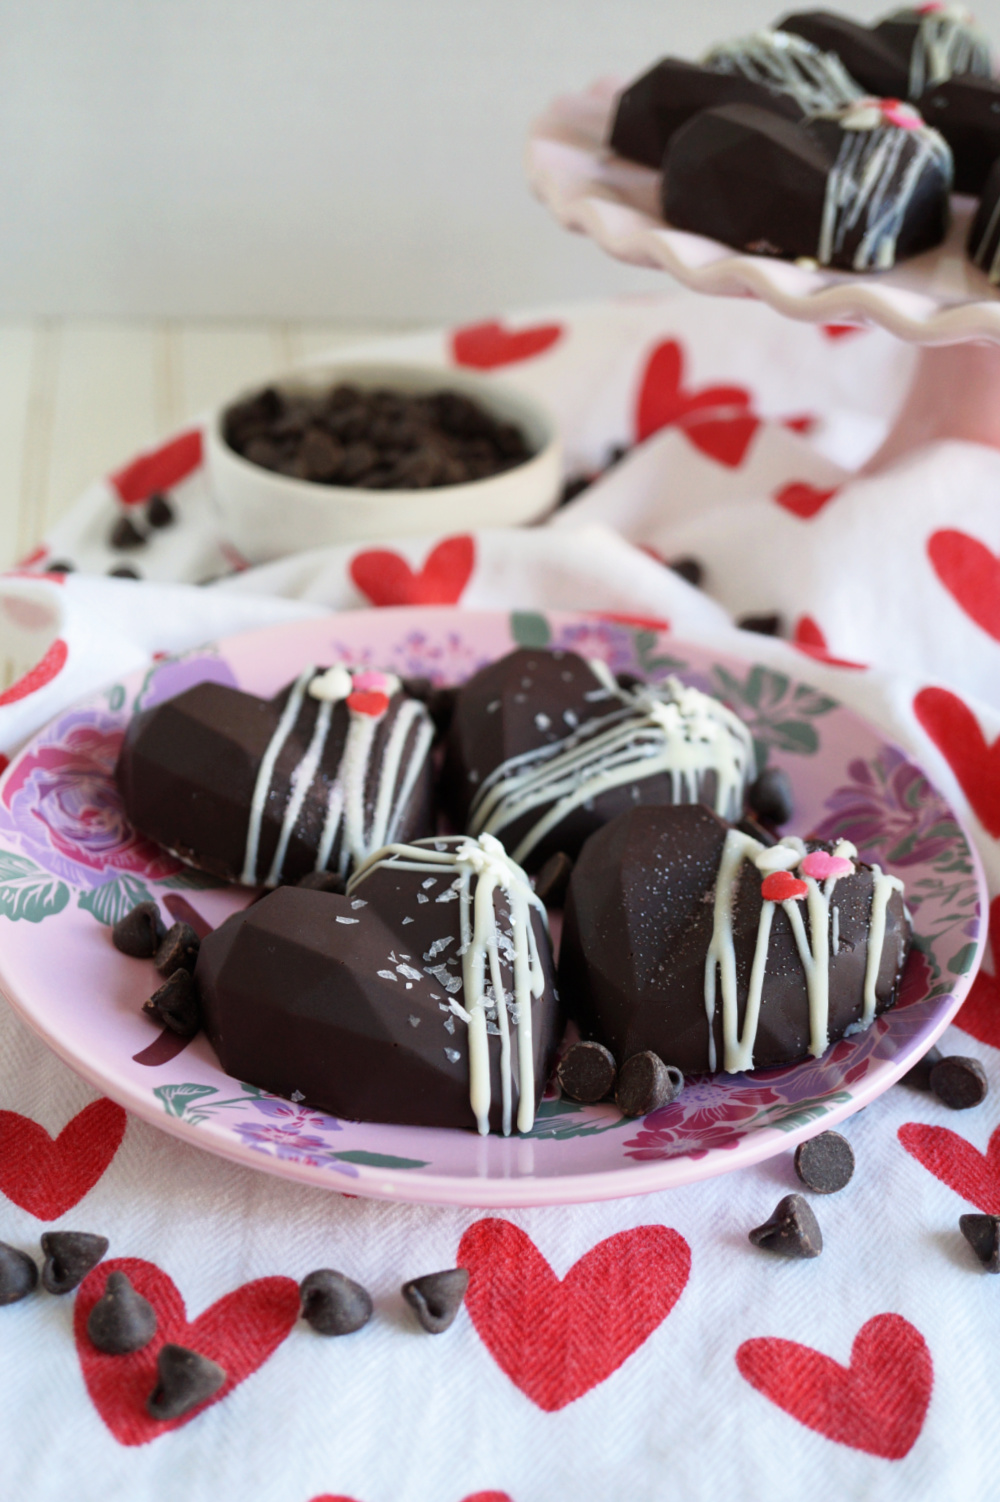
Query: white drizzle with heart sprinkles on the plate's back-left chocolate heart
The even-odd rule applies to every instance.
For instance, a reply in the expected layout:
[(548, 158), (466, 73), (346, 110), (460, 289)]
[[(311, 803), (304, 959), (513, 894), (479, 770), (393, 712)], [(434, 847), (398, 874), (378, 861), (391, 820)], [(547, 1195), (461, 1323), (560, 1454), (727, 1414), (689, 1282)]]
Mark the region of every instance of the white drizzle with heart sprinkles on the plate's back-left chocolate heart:
[[(420, 775), (420, 768), (431, 748), (434, 727), (426, 709), (416, 700), (407, 698), (398, 706), (392, 730), (378, 762), (375, 802), (368, 819), (365, 790), (371, 774), (371, 754), (377, 728), (386, 709), (371, 713), (365, 709), (356, 709), (350, 703), (350, 698), (357, 689), (363, 692), (372, 682), (378, 685), (377, 692), (384, 697), (387, 709), (387, 701), (401, 688), (399, 679), (392, 673), (374, 674), (366, 670), (350, 670), (342, 664), (318, 670), (309, 664), (293, 683), (285, 707), (257, 769), (246, 823), (243, 871), (240, 874), (240, 882), (246, 886), (252, 886), (258, 880), (263, 880), (264, 886), (276, 886), (281, 882), (288, 844), (309, 789), (323, 768), (323, 754), (333, 721), (333, 710), (342, 700), (347, 700), (347, 736), (336, 777), (330, 783), (326, 799), (323, 829), (317, 844), (315, 870), (327, 870), (338, 835), (341, 837), (338, 870), (341, 876), (345, 876), (351, 862), (357, 864), (363, 861), (372, 850), (386, 844), (398, 832), (416, 780)], [(306, 694), (309, 698), (318, 700), (315, 725), (302, 759), (291, 772), (275, 855), (267, 873), (261, 879), (258, 865), (264, 810), (273, 793), (278, 757), (296, 728)], [(407, 743), (410, 743), (410, 754), (404, 766), (402, 759)]]

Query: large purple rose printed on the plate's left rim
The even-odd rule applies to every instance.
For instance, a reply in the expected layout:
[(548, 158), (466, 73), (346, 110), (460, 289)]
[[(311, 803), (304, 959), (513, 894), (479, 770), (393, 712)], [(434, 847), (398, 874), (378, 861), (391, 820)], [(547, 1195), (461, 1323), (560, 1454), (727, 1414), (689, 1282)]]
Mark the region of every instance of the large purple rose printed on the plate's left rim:
[(0, 828), (75, 886), (99, 886), (122, 871), (162, 882), (183, 870), (125, 817), (114, 783), (122, 737), (120, 721), (101, 710), (69, 713), (51, 740), (21, 757), (3, 790)]

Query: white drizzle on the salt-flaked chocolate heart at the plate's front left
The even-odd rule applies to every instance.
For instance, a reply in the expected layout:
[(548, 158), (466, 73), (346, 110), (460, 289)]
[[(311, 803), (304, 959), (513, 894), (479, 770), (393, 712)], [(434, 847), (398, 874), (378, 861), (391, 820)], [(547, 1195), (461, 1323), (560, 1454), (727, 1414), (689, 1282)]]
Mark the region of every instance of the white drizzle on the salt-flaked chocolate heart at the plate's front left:
[[(538, 952), (532, 909), (548, 927), (544, 903), (532, 891), (520, 865), (492, 835), (470, 840), (449, 835), (422, 840), (416, 844), (387, 844), (375, 850), (351, 876), (347, 895), (380, 868), (425, 871), (429, 876), (453, 874), (447, 891), (459, 901), (458, 919), (462, 961), (462, 1003), (449, 996), (446, 1009), (468, 1027), (468, 1101), (480, 1136), (489, 1133), (491, 1081), (489, 1033), (500, 1035), (500, 1095), (503, 1134), (512, 1126), (514, 1077), (511, 1062), (511, 1026), (517, 1027), (518, 1057), (518, 1131), (530, 1131), (535, 1122), (535, 1056), (532, 1045), (532, 1002), (545, 990), (545, 972)], [(474, 889), (473, 889), (474, 879)], [(497, 921), (494, 895), (500, 891), (508, 907), (509, 937)], [(443, 901), (441, 894), (437, 901)], [(435, 958), (450, 943), (438, 940), (428, 951)], [(514, 970), (514, 991), (503, 985), (502, 952), (509, 955)], [(441, 978), (443, 966), (425, 966), (425, 973), (441, 981), (446, 990), (455, 978)], [(392, 972), (389, 972), (392, 973)], [(444, 972), (446, 973), (446, 972)], [(495, 1018), (495, 1021), (494, 1021)], [(456, 1054), (458, 1057), (458, 1054)]]

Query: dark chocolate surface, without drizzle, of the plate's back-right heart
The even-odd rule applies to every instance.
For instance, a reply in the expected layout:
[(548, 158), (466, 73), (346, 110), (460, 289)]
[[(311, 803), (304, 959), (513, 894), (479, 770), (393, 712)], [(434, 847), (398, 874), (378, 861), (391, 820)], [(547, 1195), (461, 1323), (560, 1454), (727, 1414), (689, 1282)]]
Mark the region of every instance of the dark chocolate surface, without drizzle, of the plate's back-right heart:
[[(593, 697), (587, 697), (593, 695)], [(455, 823), (467, 828), (473, 799), (486, 777), (503, 762), (539, 746), (554, 745), (583, 725), (619, 707), (584, 658), (575, 652), (518, 647), (479, 670), (458, 692), (447, 736), (441, 778), (443, 796)], [(566, 713), (571, 719), (566, 719)], [(542, 715), (542, 722), (536, 716)], [(715, 804), (716, 778), (707, 772), (701, 798)], [(521, 859), (526, 871), (541, 871), (550, 856), (565, 852), (575, 859), (584, 841), (608, 819), (637, 804), (668, 804), (670, 774), (640, 777), (607, 789), (571, 810), (535, 849)], [(509, 853), (550, 805), (542, 804), (503, 829), (497, 840)]]

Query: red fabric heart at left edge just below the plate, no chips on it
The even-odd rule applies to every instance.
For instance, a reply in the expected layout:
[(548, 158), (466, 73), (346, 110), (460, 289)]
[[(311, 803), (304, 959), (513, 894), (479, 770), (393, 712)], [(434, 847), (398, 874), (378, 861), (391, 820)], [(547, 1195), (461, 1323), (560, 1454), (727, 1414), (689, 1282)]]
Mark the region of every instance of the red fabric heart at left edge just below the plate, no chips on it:
[(57, 1220), (107, 1172), (126, 1120), (114, 1101), (92, 1101), (50, 1137), (30, 1116), (0, 1111), (0, 1193), (38, 1220)]

